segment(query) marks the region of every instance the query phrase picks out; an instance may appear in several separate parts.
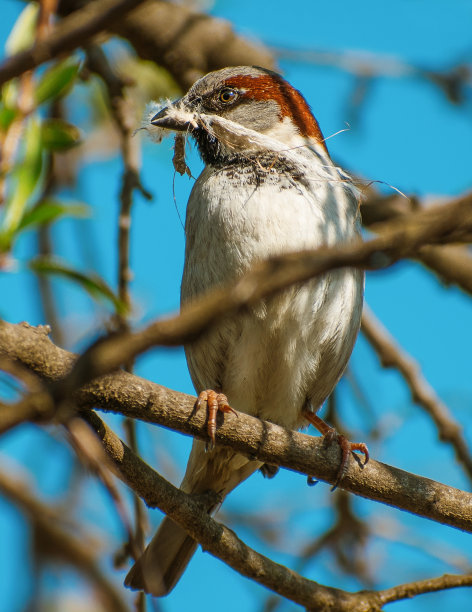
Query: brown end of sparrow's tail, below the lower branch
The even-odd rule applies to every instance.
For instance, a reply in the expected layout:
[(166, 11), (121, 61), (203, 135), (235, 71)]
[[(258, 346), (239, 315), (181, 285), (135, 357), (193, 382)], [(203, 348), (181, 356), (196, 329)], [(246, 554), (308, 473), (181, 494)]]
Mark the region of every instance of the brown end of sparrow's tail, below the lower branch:
[(197, 549), (187, 532), (165, 517), (142, 556), (125, 578), (125, 585), (156, 597), (167, 595)]

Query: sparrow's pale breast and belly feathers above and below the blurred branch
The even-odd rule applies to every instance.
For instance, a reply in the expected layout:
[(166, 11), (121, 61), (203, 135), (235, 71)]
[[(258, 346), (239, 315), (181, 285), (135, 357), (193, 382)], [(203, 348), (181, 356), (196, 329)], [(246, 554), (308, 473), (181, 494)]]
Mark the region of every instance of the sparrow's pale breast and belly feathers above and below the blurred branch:
[[(357, 203), (342, 185), (277, 172), (204, 170), (187, 208), (183, 302), (231, 282), (258, 260), (356, 235)], [(217, 387), (237, 410), (299, 424), (305, 400), (319, 405), (344, 368), (361, 301), (362, 275), (333, 272), (226, 318), (186, 347), (197, 390)], [(325, 354), (336, 364), (329, 372), (320, 370)], [(315, 392), (321, 376), (326, 384)]]

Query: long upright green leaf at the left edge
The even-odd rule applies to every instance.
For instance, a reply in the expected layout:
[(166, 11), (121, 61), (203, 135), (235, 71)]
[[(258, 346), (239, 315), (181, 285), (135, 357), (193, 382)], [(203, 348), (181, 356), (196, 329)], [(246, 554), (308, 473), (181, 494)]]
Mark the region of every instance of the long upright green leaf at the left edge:
[(36, 189), (42, 170), (41, 123), (31, 116), (26, 121), (23, 139), (23, 159), (13, 171), (8, 190), (5, 217), (1, 228), (0, 245), (4, 250), (21, 223), (23, 214), (33, 191)]

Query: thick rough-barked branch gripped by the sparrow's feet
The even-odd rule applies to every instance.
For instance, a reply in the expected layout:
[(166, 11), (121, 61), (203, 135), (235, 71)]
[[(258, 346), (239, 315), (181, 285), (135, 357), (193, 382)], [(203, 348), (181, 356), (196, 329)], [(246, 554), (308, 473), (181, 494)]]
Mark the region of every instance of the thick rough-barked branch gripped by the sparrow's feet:
[[(19, 360), (39, 376), (57, 380), (74, 356), (47, 336), (25, 325), (0, 324), (0, 352)], [(56, 364), (55, 366), (52, 364)], [(34, 395), (29, 396), (34, 398)], [(105, 376), (76, 394), (83, 406), (119, 412), (206, 439), (204, 414), (193, 414), (195, 398), (125, 372)], [(218, 428), (217, 444), (261, 461), (281, 465), (333, 483), (339, 466), (337, 445), (328, 450), (320, 438), (239, 413), (227, 415)], [(437, 522), (472, 532), (472, 494), (371, 460), (364, 469), (350, 462), (342, 488)]]

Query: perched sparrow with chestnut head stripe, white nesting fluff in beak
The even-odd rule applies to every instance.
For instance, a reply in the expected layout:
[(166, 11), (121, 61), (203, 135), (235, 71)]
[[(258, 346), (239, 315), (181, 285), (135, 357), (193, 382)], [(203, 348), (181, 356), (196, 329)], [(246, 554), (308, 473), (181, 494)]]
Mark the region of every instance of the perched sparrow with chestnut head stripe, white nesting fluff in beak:
[[(183, 305), (272, 255), (358, 239), (356, 190), (333, 165), (301, 93), (278, 74), (248, 66), (211, 72), (151, 124), (190, 134), (205, 163), (187, 206)], [(309, 421), (333, 435), (315, 412), (351, 354), (363, 285), (360, 270), (329, 272), (225, 318), (185, 347), (197, 404), (208, 406), (212, 440), (217, 411), (233, 409), (286, 428)], [(368, 452), (338, 439), (342, 476), (351, 450), (366, 461)], [(261, 466), (195, 440), (181, 489), (215, 491), (222, 500)], [(196, 547), (164, 518), (125, 584), (167, 594)]]

